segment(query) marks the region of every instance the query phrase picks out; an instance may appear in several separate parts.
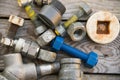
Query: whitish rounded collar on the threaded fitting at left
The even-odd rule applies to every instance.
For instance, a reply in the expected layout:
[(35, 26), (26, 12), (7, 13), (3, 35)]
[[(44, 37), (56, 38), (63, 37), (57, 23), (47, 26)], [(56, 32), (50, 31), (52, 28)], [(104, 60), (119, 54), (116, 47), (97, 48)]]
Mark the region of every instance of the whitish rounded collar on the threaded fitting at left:
[(21, 52), (24, 43), (25, 43), (25, 40), (22, 39), (22, 38), (17, 40), (16, 43), (15, 43), (15, 52)]

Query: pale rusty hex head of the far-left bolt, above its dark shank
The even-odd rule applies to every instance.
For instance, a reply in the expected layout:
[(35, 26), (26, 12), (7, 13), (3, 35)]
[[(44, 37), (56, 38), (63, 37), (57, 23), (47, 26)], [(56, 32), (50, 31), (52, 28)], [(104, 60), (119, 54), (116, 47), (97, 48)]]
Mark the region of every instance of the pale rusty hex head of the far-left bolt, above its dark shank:
[(23, 26), (23, 24), (24, 24), (24, 19), (20, 18), (18, 16), (15, 16), (15, 15), (10, 15), (8, 21), (13, 23), (13, 24), (16, 24), (18, 26)]

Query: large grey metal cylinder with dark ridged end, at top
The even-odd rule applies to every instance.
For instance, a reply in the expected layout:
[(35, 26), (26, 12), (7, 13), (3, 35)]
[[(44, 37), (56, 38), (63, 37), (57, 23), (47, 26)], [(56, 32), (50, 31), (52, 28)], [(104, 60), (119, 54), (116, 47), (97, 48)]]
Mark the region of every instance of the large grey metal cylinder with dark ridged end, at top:
[(50, 5), (45, 5), (39, 12), (39, 18), (50, 28), (54, 29), (61, 20), (66, 8), (58, 1), (54, 0)]

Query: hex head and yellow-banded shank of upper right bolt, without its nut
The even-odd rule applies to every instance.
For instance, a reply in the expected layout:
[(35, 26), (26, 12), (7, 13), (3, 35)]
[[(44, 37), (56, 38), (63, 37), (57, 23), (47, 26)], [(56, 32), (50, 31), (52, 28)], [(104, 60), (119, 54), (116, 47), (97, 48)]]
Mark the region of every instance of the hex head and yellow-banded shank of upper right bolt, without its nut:
[(85, 2), (81, 2), (79, 8), (79, 11), (75, 15), (73, 15), (68, 21), (64, 22), (65, 28), (68, 28), (72, 23), (76, 22), (84, 14), (89, 15), (92, 13), (92, 9)]

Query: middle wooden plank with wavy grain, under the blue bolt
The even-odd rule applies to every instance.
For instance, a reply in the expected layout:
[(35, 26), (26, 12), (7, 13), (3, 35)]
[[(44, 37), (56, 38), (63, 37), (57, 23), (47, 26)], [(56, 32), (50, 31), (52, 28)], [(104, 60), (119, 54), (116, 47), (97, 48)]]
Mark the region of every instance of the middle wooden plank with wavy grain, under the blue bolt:
[[(5, 36), (5, 33), (10, 26), (10, 23), (5, 19), (0, 19), (0, 32)], [(23, 37), (35, 40), (34, 26), (31, 21), (26, 20), (24, 27), (18, 30), (16, 37)], [(87, 36), (84, 40), (79, 42), (72, 42), (70, 39), (65, 40), (68, 44), (76, 47), (84, 52), (95, 51), (99, 55), (99, 61), (96, 67), (88, 69), (81, 66), (84, 72), (88, 73), (116, 73), (120, 74), (120, 35), (115, 41), (110, 44), (100, 45), (92, 42)], [(57, 61), (61, 58), (70, 57), (63, 52), (58, 52)]]

